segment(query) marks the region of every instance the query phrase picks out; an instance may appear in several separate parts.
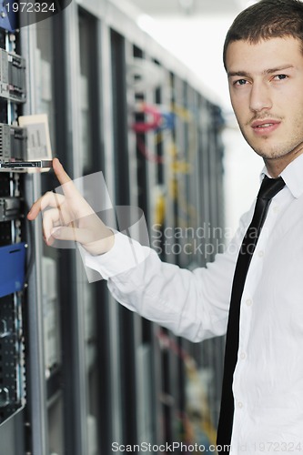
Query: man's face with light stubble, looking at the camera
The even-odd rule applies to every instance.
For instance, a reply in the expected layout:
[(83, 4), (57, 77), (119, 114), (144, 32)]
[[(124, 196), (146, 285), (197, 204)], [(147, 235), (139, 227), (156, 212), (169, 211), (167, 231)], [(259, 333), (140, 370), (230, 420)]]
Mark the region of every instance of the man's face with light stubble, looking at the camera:
[(227, 47), (231, 103), (247, 143), (278, 173), (303, 153), (303, 55), (291, 36)]

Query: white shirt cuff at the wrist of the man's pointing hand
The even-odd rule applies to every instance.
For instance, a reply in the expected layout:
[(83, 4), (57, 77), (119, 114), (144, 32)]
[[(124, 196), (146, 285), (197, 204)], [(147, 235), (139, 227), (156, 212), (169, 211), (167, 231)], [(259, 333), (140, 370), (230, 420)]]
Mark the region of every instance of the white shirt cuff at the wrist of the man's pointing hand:
[(80, 247), (85, 266), (93, 268), (105, 279), (135, 268), (147, 258), (149, 253), (150, 248), (143, 247), (133, 238), (120, 232), (115, 233), (114, 246), (103, 255), (92, 256), (85, 248)]

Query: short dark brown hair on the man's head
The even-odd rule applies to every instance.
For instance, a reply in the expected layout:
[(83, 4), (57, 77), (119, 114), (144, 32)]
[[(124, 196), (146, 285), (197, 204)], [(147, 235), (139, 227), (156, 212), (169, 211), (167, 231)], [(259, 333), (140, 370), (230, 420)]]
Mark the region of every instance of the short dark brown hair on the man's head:
[(223, 49), (227, 69), (227, 46), (244, 40), (257, 44), (260, 40), (293, 36), (301, 41), (303, 52), (303, 3), (300, 0), (260, 0), (237, 15), (230, 26)]

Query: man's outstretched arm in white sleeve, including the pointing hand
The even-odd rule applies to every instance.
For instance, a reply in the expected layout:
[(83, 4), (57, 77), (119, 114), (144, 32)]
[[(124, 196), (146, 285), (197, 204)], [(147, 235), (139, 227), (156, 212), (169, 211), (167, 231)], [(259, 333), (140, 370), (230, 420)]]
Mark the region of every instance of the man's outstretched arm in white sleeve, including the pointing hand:
[[(231, 283), (237, 251), (247, 221), (241, 223), (232, 247), (207, 268), (194, 271), (162, 262), (156, 251), (120, 233), (114, 237), (80, 195), (57, 159), (54, 171), (64, 195), (40, 197), (28, 219), (45, 210), (45, 242), (74, 240), (85, 248), (86, 267), (95, 269), (112, 295), (126, 308), (193, 341), (226, 331)], [(106, 253), (106, 254), (105, 254)]]

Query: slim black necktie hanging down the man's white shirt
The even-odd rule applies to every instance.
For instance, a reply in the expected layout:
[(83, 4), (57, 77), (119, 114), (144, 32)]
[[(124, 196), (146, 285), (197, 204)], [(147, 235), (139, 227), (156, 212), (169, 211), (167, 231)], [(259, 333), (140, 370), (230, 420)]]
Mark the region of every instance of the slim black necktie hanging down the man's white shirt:
[(268, 214), (268, 207), (272, 197), (285, 186), (282, 177), (268, 178), (264, 177), (258, 192), (256, 207), (252, 221), (247, 228), (245, 237), (237, 257), (235, 275), (231, 291), (229, 316), (227, 323), (227, 344), (224, 359), (224, 374), (222, 386), (221, 410), (217, 428), (217, 446), (218, 450), (229, 453), (225, 445), (230, 444), (231, 431), (234, 418), (234, 396), (232, 392), (232, 383), (234, 370), (237, 363), (238, 336), (239, 336), (239, 319), (240, 319), (240, 302), (242, 298), (245, 280), (250, 260), (256, 248), (258, 237), (265, 218)]

